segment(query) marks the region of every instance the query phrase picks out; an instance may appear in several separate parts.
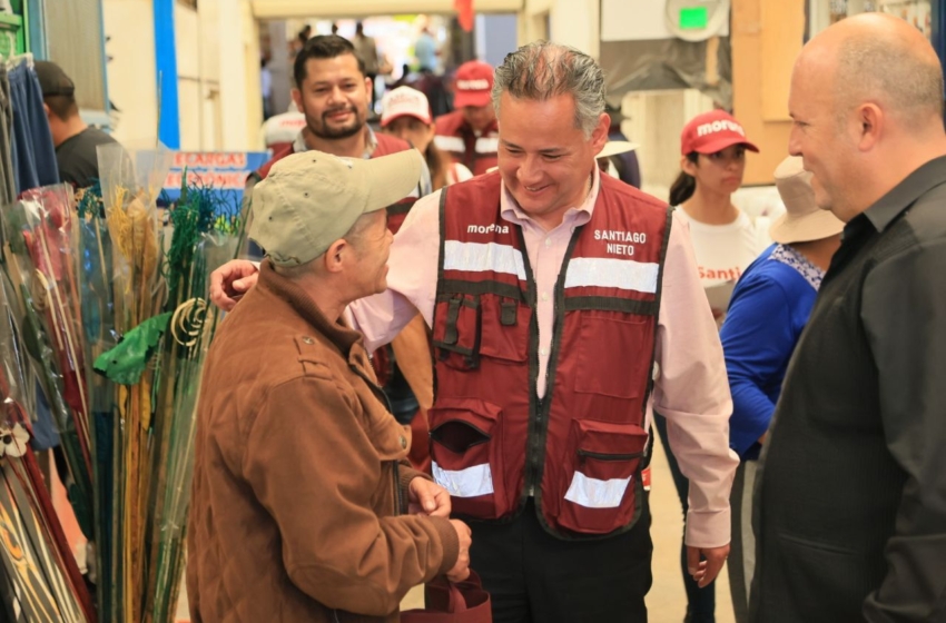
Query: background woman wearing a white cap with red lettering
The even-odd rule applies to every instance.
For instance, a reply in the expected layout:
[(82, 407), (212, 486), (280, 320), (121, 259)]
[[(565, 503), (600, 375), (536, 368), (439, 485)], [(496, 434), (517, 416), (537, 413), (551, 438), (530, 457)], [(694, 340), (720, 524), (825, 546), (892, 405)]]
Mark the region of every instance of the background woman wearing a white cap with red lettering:
[(381, 127), (424, 155), (434, 190), (473, 177), (470, 169), (453, 162), (434, 145), (435, 127), (427, 96), (411, 87), (397, 87), (384, 93), (381, 107)]

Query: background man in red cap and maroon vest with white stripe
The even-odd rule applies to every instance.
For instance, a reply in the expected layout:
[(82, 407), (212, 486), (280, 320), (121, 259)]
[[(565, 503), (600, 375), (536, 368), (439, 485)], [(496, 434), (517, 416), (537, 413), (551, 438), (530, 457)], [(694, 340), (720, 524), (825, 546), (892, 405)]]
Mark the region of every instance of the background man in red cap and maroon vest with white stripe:
[(499, 127), (490, 100), (493, 68), (479, 60), (464, 62), (456, 70), (453, 112), (436, 118), (434, 144), (473, 175), (496, 166)]

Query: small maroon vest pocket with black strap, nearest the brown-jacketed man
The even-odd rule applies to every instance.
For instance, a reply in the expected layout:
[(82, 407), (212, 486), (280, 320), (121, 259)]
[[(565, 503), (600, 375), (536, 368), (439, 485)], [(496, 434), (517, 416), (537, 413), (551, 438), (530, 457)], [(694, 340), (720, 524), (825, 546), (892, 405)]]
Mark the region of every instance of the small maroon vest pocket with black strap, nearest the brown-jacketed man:
[(436, 358), (461, 370), (480, 367), (480, 297), (437, 296), (431, 342)]

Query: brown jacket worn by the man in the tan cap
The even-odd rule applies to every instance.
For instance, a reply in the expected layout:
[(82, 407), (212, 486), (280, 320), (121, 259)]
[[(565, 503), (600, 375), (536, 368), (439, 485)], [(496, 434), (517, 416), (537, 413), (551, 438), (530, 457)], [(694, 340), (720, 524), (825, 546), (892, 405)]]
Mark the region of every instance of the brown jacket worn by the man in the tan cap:
[(410, 441), (359, 334), (262, 266), (220, 325), (197, 413), (187, 591), (195, 623), (397, 621), (453, 567), (447, 520), (406, 512)]

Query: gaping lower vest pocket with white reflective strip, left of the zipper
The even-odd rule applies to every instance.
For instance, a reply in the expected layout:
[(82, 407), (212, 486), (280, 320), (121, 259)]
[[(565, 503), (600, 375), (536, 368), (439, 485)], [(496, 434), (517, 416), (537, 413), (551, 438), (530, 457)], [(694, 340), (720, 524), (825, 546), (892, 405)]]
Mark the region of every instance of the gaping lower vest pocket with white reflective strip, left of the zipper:
[(475, 398), (437, 400), (431, 408), (434, 479), (450, 492), (453, 512), (492, 520), (508, 512), (500, 407)]

